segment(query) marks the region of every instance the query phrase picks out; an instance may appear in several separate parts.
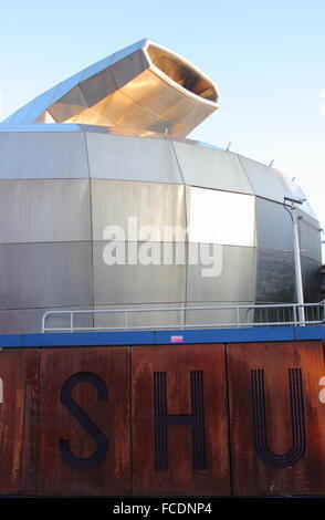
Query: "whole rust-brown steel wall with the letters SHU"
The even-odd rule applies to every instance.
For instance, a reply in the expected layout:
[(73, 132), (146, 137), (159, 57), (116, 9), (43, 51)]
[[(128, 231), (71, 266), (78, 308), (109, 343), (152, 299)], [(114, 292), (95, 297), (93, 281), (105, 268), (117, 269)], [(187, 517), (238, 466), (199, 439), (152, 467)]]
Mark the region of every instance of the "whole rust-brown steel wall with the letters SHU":
[(0, 495), (325, 493), (319, 341), (0, 352)]

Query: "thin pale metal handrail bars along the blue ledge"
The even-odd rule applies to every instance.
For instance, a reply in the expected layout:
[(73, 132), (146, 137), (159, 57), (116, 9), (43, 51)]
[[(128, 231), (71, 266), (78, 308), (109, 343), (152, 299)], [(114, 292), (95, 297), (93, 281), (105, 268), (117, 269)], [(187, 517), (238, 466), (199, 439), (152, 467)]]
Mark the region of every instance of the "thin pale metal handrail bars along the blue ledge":
[[(298, 313), (296, 312), (300, 308), (308, 309), (316, 308), (319, 310), (319, 320), (304, 320), (300, 321), (297, 319)], [(249, 312), (252, 310), (264, 309), (266, 321), (255, 322), (249, 320)], [(293, 311), (293, 320), (287, 321), (272, 321), (268, 320), (268, 310), (279, 310), (280, 309), (291, 309)], [(186, 323), (186, 313), (188, 311), (226, 311), (233, 310), (235, 311), (235, 321), (231, 323)], [(245, 320), (240, 320), (241, 310), (245, 310)], [(129, 314), (134, 313), (157, 313), (157, 312), (182, 312), (182, 323), (181, 324), (169, 324), (169, 325), (130, 325), (129, 324)], [(124, 326), (74, 326), (75, 315), (80, 314), (124, 314)], [(64, 326), (46, 326), (46, 320), (50, 316), (55, 315), (67, 315), (70, 318), (70, 325)], [(46, 311), (42, 316), (42, 333), (45, 332), (82, 332), (82, 331), (134, 331), (134, 330), (165, 330), (165, 329), (206, 329), (206, 327), (252, 327), (252, 326), (283, 326), (283, 325), (324, 325), (325, 324), (325, 300), (317, 303), (272, 303), (272, 304), (261, 304), (261, 305), (209, 305), (209, 306), (174, 306), (174, 308), (156, 308), (156, 309), (90, 309), (90, 310), (61, 310), (61, 311)]]

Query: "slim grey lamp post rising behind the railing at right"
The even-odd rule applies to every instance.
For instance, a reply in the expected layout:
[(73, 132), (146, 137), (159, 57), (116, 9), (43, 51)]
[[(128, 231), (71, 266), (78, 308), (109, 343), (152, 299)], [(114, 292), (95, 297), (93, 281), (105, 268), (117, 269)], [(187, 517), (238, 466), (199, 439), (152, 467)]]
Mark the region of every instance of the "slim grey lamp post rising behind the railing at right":
[[(302, 275), (302, 263), (301, 263), (301, 247), (298, 236), (298, 209), (296, 204), (303, 204), (306, 199), (292, 199), (284, 197), (284, 207), (290, 208), (290, 216), (292, 219), (292, 232), (293, 232), (293, 257), (294, 257), (294, 271), (295, 271), (295, 288), (296, 299), (298, 303), (298, 321), (302, 325), (305, 323), (305, 309), (304, 309), (304, 290), (303, 290), (303, 275)], [(286, 204), (290, 202), (290, 205)]]

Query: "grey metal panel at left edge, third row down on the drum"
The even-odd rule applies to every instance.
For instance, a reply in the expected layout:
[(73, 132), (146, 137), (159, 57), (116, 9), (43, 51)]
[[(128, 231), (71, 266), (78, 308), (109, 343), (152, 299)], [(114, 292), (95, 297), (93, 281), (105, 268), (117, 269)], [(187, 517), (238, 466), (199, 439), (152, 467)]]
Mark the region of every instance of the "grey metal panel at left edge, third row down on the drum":
[(91, 242), (0, 245), (0, 309), (90, 305)]

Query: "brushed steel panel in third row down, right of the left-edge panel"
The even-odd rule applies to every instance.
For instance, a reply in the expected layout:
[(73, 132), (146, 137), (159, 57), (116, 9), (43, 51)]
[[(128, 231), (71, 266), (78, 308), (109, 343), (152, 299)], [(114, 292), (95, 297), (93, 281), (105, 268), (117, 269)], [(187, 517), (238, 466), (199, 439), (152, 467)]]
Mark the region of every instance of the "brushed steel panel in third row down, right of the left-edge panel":
[[(180, 266), (107, 266), (103, 253), (107, 242), (94, 242), (94, 304), (171, 303), (185, 301), (186, 267)], [(157, 242), (160, 247), (166, 242)], [(127, 242), (136, 252), (143, 242)], [(124, 245), (123, 245), (124, 246)], [(161, 246), (162, 247), (162, 246)], [(175, 245), (172, 245), (175, 249)]]

